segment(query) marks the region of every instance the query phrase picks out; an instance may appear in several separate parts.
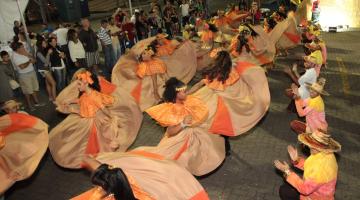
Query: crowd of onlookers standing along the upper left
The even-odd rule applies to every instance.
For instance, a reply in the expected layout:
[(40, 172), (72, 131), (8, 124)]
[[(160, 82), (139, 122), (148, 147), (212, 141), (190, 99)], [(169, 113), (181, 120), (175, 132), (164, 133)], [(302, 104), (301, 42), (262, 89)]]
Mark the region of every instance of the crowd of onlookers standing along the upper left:
[[(239, 2), (241, 10), (251, 8), (246, 2)], [(98, 30), (85, 18), (80, 23), (60, 23), (55, 29), (43, 24), (38, 33), (26, 35), (22, 24), (15, 21), (12, 51), (1, 52), (0, 76), (5, 77), (0, 80), (0, 104), (23, 93), (30, 110), (44, 105), (37, 97), (39, 82), (54, 102), (79, 68), (91, 68), (109, 78), (119, 57), (137, 41), (163, 32), (170, 38), (180, 36), (182, 30), (196, 27), (199, 19), (212, 16), (207, 7), (206, 0), (153, 0), (147, 11), (135, 9), (130, 14), (118, 8), (101, 20)], [(101, 65), (99, 52), (104, 58)]]

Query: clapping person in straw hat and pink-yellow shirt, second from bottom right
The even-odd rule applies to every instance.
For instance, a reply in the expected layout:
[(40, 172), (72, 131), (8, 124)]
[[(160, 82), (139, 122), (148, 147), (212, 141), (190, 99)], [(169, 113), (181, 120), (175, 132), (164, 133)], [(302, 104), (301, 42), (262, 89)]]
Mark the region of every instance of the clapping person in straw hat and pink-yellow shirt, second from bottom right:
[(305, 117), (306, 123), (293, 120), (290, 127), (298, 134), (303, 132), (312, 132), (317, 129), (327, 130), (328, 123), (325, 120), (325, 105), (321, 95), (329, 95), (324, 90), (326, 80), (319, 78), (318, 82), (313, 84), (306, 84), (310, 90), (310, 98), (299, 98), (297, 89), (294, 88), (295, 105), (297, 113), (300, 117)]

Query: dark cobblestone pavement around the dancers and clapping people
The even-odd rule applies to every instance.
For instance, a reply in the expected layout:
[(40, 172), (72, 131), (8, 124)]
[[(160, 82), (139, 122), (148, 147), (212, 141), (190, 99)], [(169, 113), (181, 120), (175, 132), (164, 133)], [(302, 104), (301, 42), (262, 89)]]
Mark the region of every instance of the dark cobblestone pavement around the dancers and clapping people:
[[(326, 117), (331, 134), (343, 148), (337, 155), (339, 180), (336, 199), (340, 200), (360, 199), (359, 37), (360, 32), (324, 33), (323, 36), (328, 45), (329, 62), (321, 76), (327, 79), (325, 88), (331, 94), (324, 98)], [(269, 74), (272, 102), (268, 114), (247, 134), (231, 139), (232, 154), (217, 171), (199, 178), (211, 199), (279, 199), (278, 188), (283, 180), (275, 171), (273, 160), (287, 160), (286, 146), (297, 144), (296, 135), (289, 128), (289, 122), (296, 116), (285, 111), (289, 100), (283, 95), (290, 80), (282, 70), (299, 60), (301, 52), (301, 48), (297, 48), (288, 58), (276, 60), (276, 68)], [(63, 118), (53, 106), (34, 114), (51, 127)], [(163, 129), (146, 116), (133, 147), (156, 145), (162, 133)], [(62, 200), (89, 187), (88, 173), (60, 168), (48, 153), (36, 173), (28, 180), (16, 183), (7, 192), (6, 199)]]

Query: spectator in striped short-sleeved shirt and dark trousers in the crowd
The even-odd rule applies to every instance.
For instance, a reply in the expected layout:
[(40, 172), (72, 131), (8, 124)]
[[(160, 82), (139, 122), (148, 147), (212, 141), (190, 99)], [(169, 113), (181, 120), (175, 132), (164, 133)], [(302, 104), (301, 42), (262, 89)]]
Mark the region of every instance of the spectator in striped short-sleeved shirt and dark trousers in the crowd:
[(101, 42), (102, 50), (105, 56), (106, 73), (111, 74), (112, 68), (115, 64), (115, 54), (110, 36), (110, 31), (107, 29), (109, 23), (106, 19), (101, 20), (101, 27), (98, 32), (98, 37)]

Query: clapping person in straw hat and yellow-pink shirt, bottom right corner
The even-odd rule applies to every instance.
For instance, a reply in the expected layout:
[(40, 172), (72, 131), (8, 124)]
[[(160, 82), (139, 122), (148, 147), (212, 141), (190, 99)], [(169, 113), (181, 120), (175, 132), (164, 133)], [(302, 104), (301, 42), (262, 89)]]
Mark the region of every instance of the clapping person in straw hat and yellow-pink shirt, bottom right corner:
[(299, 142), (310, 149), (310, 156), (305, 159), (289, 145), (288, 153), (294, 167), (303, 170), (303, 177), (290, 169), (286, 161), (275, 160), (275, 167), (284, 173), (286, 183), (279, 188), (280, 198), (301, 200), (334, 200), (338, 165), (334, 153), (341, 150), (341, 145), (322, 130), (302, 133)]

